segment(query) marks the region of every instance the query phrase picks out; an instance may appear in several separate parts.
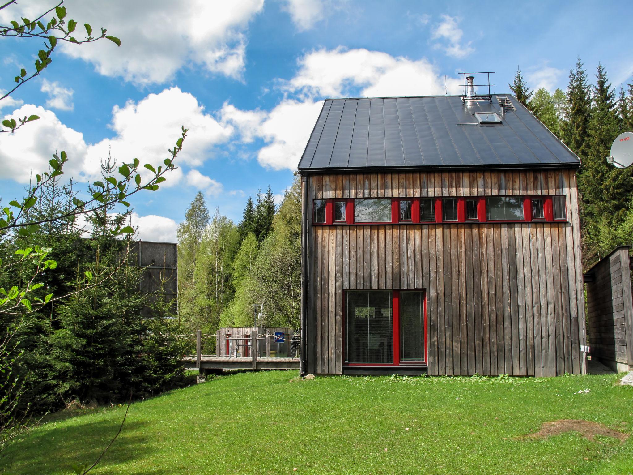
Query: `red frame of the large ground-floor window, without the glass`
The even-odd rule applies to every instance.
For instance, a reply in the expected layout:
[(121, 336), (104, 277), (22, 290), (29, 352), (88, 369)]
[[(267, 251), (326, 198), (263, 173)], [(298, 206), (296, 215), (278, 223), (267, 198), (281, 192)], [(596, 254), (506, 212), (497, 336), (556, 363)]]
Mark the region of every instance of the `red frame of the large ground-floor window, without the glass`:
[[(428, 367), (429, 365), (429, 324), (427, 322), (427, 291), (426, 289), (344, 289), (343, 290), (343, 302), (342, 302), (342, 357), (345, 357), (345, 319), (346, 319), (346, 308), (345, 308), (345, 294), (348, 291), (356, 291), (356, 290), (388, 290), (391, 291), (391, 326), (393, 329), (392, 333), (392, 352), (393, 352), (393, 362), (392, 363), (346, 363), (343, 362), (343, 367), (411, 367), (411, 366), (422, 366)], [(424, 359), (422, 361), (406, 361), (400, 362), (400, 293), (401, 292), (422, 292), (422, 307), (424, 314)]]

